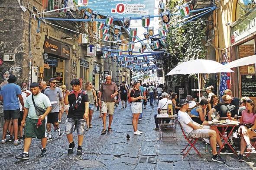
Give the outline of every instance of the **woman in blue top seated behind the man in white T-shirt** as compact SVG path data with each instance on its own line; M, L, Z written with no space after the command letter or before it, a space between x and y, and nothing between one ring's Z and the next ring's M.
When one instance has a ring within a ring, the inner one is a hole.
M194 109L190 112L191 119L200 124L200 125L208 125L208 121L205 121L206 108L208 106L208 101L202 99L198 107L194 107Z

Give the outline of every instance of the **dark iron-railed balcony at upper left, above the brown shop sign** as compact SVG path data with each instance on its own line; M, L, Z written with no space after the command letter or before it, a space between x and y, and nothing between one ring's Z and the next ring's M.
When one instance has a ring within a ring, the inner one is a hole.
M45 13L45 18L63 18L63 19L81 19L84 14L84 10L78 10L78 8L70 9L61 9L65 7L65 4L62 3L63 0L45 0L43 2L45 11L51 11L54 9L60 9L51 13ZM46 20L47 21L47 20ZM57 21L57 20L48 20L52 24L59 25L74 31L83 31L84 22L74 22L74 21Z

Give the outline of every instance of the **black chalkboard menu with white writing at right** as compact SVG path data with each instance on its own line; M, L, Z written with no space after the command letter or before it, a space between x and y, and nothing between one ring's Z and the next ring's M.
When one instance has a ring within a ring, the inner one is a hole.
M242 96L256 97L255 75L241 75L241 94Z

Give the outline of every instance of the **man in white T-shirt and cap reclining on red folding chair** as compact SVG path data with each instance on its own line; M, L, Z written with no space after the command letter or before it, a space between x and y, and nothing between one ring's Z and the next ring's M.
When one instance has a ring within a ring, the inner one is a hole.
M217 154L216 150L217 143L222 146L220 136L217 135L216 131L210 129L210 126L199 125L191 119L188 113L186 113L188 110L188 103L188 99L181 99L180 101L181 109L178 111L178 121L181 124L181 127L190 138L210 138L210 145L213 153L211 158L212 161L225 163L226 160L221 158L220 155ZM211 128L214 128L214 126L211 126ZM222 150L225 152L220 152L220 154L233 154L232 151L229 151L226 145Z

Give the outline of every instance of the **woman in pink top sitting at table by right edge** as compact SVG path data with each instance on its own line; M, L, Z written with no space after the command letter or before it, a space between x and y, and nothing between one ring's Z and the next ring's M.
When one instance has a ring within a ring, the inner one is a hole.
M256 136L256 108L254 101L251 99L246 100L246 109L242 111L242 117L240 118L240 124L243 126L239 127L239 132L242 132L241 143L240 143L240 154L238 161L243 162L243 153L247 147L247 151L254 150L250 138ZM230 117L230 120L237 121Z

